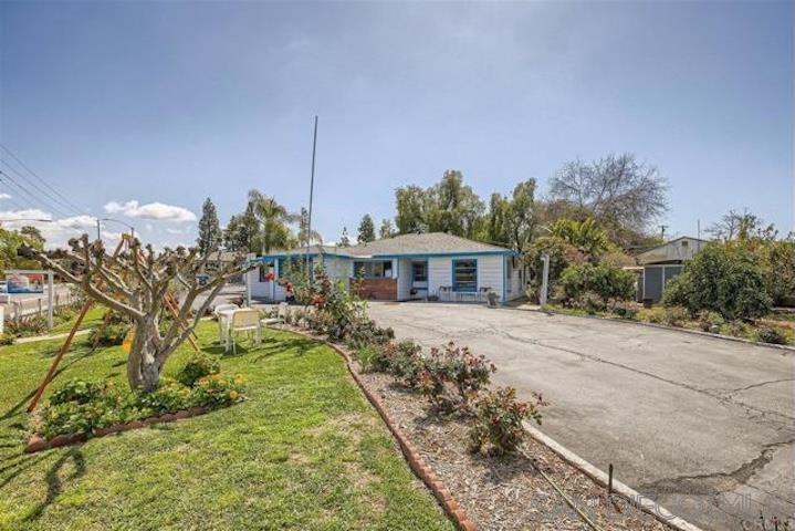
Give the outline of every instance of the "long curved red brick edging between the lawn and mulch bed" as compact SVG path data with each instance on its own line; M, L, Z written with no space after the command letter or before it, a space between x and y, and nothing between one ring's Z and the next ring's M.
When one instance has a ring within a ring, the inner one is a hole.
M395 439L398 441L398 446L400 446L400 451L402 451L402 455L406 458L406 461L408 461L409 468L415 473L415 476L417 476L426 485L426 487L430 489L436 499L439 501L439 504L442 507L442 509L444 509L444 512L447 512L447 514L456 522L456 524L460 529L462 529L463 531L477 531L478 527L474 524L474 522L472 522L472 520L469 519L461 506L458 504L458 501L456 501L456 499L452 497L450 490L444 487L442 480L433 472L433 469L430 467L430 465L428 465L428 462L422 459L422 456L420 456L419 452L411 445L411 442L409 442L408 438L402 434L400 428L395 423L393 423L378 397L374 393L372 393L362 382L358 373L353 366L353 361L351 360L348 353L342 350L338 345L335 345L334 343L331 343L322 337L308 334L303 330L297 330L294 327L289 327L285 330L323 343L326 346L329 346L334 352L339 354L343 360L345 360L345 366L347 367L348 373L351 373L351 376L354 378L354 382L356 382L356 385L367 397L367 400L369 400L373 407L375 407L376 412L378 412L378 415L381 417L381 420L384 420L384 424L386 424L387 428L389 428L389 431L391 431L393 437L395 437Z

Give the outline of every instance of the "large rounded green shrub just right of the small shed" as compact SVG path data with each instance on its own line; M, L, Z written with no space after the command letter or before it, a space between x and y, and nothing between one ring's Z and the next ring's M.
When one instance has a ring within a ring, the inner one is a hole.
M698 313L720 313L724 319L751 320L771 311L765 274L753 254L743 248L709 243L666 284L666 305Z

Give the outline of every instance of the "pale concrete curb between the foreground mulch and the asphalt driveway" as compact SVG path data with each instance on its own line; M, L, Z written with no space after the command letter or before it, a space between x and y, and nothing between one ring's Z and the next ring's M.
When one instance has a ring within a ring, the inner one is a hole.
M523 421L522 424L524 426L524 430L533 439L550 448L552 451L561 456L563 460L580 470L583 473L588 476L597 483L607 487L607 483L609 481L607 473L599 470L594 465L586 461L565 446L561 445L548 435L542 433L538 428L534 427L530 423ZM665 523L666 525L669 525L672 529L676 529L677 531L702 531L701 528L693 525L692 523L680 517L677 517L671 511L653 501L651 498L641 494L637 490L620 481L617 481L616 479L613 480L613 490L626 498L632 506L637 507L646 513L651 514L660 522Z

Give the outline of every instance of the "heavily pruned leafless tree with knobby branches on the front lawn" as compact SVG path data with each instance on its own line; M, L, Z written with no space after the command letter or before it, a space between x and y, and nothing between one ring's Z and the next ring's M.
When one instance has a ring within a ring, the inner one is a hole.
M29 247L22 253L80 287L93 301L130 319L135 337L127 358L127 381L145 393L157 388L166 360L192 333L227 281L253 268L241 256L200 283L198 275L206 273L209 254L202 257L197 248L167 248L156 253L150 244L142 248L134 239L113 256L101 241L90 242L87 235L70 240L69 246L71 250L60 253L71 261L69 269L57 261L57 254L51 258ZM178 316L161 333L160 313L170 290L179 291ZM191 314L199 295L206 299Z

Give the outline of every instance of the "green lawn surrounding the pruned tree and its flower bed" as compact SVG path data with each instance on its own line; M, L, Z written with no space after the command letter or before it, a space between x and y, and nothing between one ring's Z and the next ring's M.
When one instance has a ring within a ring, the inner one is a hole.
M205 322L199 335L220 352L216 331ZM25 404L59 345L0 348L0 529L453 529L337 354L289 333L223 357L247 377L240 405L25 455ZM54 386L125 382L124 361L79 339Z

